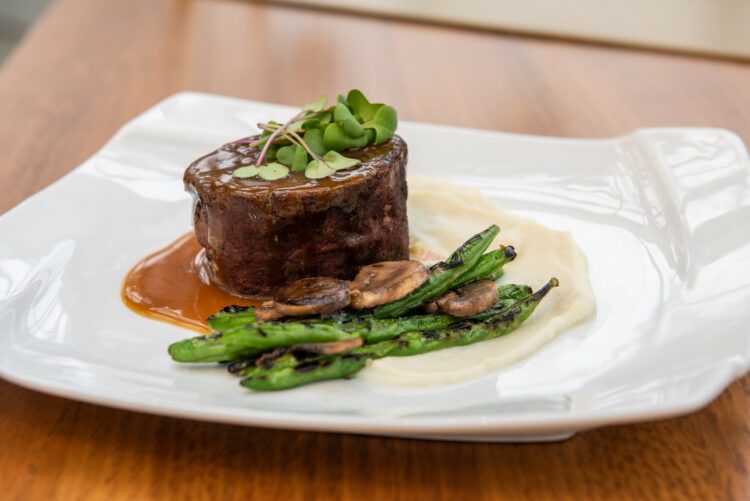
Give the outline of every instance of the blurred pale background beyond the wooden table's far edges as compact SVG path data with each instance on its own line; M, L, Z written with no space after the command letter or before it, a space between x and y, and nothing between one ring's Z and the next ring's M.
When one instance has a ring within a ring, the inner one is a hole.
M0 61L52 1L0 0ZM217 0L185 0L190 1ZM750 0L268 1L488 30L750 59ZM123 3L127 3L127 0L123 0Z

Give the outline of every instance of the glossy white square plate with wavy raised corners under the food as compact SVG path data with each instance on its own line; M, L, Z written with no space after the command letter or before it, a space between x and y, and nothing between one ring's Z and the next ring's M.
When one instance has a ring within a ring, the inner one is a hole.
M141 257L189 229L187 164L291 108L177 94L0 218L0 376L113 407L255 426L544 440L706 405L748 370L750 162L716 129L603 140L402 123L411 172L481 189L567 229L598 312L530 358L462 384L357 379L252 393L174 364L190 335L120 302Z

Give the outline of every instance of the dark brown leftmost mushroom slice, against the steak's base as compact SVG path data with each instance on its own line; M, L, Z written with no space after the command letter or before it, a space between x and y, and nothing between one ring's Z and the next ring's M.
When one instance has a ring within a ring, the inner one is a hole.
M328 277L309 277L282 287L273 301L266 301L255 310L260 321L286 316L333 313L349 306L349 283Z

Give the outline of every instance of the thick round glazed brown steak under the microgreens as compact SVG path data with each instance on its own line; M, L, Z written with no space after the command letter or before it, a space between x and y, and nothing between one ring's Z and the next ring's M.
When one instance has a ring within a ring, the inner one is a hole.
M311 276L349 280L359 268L409 257L406 143L344 152L361 163L323 179L239 179L259 152L229 143L193 162L185 189L210 281L242 296L267 297Z

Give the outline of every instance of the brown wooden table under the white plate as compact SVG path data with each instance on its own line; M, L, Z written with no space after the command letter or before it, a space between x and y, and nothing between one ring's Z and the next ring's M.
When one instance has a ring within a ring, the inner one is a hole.
M750 142L747 64L242 1L60 0L1 71L0 213L182 90L299 104L356 86L411 120ZM0 382L2 499L748 499L749 467L747 377L687 417L530 445L223 426Z

